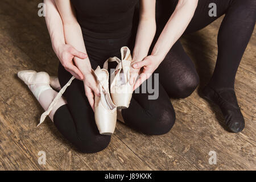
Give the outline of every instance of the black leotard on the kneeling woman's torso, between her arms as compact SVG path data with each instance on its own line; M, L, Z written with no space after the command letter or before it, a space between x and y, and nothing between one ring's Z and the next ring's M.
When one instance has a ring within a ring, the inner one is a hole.
M89 59L105 61L110 56L118 56L122 46L130 46L134 10L139 0L71 2Z

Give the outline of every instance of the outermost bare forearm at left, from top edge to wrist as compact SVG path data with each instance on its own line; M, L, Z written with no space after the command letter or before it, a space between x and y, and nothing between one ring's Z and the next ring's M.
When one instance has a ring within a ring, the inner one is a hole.
M46 25L51 37L52 48L58 55L59 48L65 44L63 22L54 0L44 0L46 4Z

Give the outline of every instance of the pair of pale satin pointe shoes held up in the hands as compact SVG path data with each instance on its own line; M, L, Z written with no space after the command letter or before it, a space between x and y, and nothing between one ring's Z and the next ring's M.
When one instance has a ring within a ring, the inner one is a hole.
M115 71L110 75L108 63L117 62ZM95 95L94 116L100 134L112 135L117 123L117 109L126 109L130 105L133 85L130 85L131 53L128 47L121 48L121 60L110 57L105 61L103 69L97 67L94 75L101 97Z

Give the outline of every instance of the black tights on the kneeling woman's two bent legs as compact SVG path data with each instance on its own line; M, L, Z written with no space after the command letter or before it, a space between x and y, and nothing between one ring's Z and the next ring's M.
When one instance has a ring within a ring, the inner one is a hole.
M92 67L97 64L90 59ZM101 65L102 67L102 65ZM70 73L59 65L59 81L63 87L71 78ZM154 79L152 78L154 85ZM171 130L175 121L174 108L159 84L159 97L148 100L147 93L134 93L128 109L122 110L126 125L148 135L161 135ZM68 104L56 110L53 122L69 142L81 152L91 153L103 150L110 142L110 136L100 135L94 121L94 112L85 96L82 81L73 80L64 93Z

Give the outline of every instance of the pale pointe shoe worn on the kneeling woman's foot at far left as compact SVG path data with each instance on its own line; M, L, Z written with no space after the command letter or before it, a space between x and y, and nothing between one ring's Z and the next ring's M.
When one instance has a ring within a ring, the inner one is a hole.
M49 75L46 72L24 70L18 72L18 77L27 84L37 100L39 100L39 96L44 90L51 89Z

